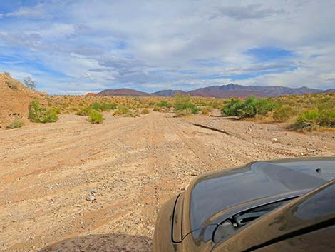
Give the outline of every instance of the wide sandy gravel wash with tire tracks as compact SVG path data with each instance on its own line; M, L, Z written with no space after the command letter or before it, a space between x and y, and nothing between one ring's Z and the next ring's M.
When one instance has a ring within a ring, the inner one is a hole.
M150 251L160 206L195 175L334 154L335 133L155 112L105 114L102 125L65 115L0 131L0 251Z

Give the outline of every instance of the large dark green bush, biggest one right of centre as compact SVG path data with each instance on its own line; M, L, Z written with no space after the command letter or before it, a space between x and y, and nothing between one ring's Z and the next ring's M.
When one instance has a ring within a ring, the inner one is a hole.
M239 116L239 118L250 118L254 116L264 116L278 105L269 99L255 99L249 96L245 101L240 99L230 99L228 104L223 106L222 115Z

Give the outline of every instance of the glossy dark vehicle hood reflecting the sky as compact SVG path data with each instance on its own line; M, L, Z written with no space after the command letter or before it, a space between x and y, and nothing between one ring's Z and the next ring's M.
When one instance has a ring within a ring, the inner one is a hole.
M234 211L301 196L334 178L335 158L254 162L207 173L180 197L183 223L179 238L192 233L197 239L208 226L217 226Z

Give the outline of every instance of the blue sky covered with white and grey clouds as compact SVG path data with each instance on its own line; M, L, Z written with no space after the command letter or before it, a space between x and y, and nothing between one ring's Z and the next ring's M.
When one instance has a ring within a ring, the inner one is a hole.
M0 71L50 94L335 88L334 0L1 0Z

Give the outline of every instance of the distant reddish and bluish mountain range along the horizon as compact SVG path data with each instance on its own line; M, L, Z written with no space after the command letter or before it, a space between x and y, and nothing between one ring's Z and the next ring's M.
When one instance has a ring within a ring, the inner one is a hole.
M162 90L153 94L137 91L135 89L106 89L98 93L99 96L166 96L171 97L175 94L190 94L190 96L202 97L216 97L216 98L229 98L229 97L274 97L287 94L315 94L323 92L334 92L335 89L322 90L322 89L309 89L302 86L297 89L289 88L286 86L243 86L237 84L228 84L222 86L207 86L205 88L195 89L192 91L182 90Z

